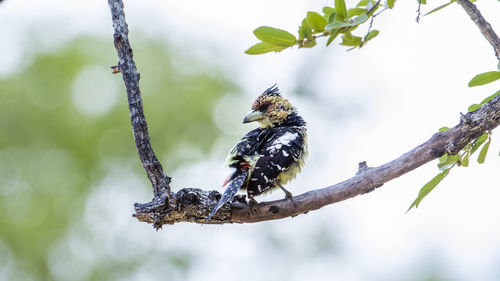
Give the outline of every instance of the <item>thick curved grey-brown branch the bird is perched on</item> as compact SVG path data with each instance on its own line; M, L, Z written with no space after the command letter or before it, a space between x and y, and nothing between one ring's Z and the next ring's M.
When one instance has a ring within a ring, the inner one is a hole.
M483 133L500 125L500 96L484 104L476 111L463 115L460 123L445 132L434 134L428 141L384 165L369 168L360 163L356 176L322 189L312 190L294 197L296 206L288 200L263 202L253 210L244 203L243 198L228 206L226 204L207 223L251 223L293 217L326 205L372 191L376 187L406 174L444 153L456 154L466 144ZM220 194L216 191L203 191L185 188L171 198L172 211L165 216L164 224L176 222L202 223L217 203ZM151 223L152 214L162 206L157 203L136 204L134 215L137 219Z

